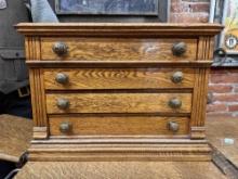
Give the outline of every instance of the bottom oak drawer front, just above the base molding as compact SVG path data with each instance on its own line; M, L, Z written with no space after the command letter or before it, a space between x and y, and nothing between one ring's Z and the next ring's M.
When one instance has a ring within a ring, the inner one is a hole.
M178 130L169 129L169 122L176 123ZM68 131L61 125L69 124ZM186 117L50 117L50 135L187 135L189 119Z

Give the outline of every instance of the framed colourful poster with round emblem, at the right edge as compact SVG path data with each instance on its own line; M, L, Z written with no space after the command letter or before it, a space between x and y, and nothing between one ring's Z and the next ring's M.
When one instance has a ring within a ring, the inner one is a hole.
M224 25L213 65L238 66L238 0L211 0L210 23Z

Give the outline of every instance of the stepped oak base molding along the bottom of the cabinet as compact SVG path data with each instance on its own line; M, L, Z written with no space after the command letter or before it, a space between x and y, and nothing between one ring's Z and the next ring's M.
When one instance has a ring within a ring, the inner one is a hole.
M124 162L124 161L211 161L211 149L203 143L142 144L32 144L31 162Z

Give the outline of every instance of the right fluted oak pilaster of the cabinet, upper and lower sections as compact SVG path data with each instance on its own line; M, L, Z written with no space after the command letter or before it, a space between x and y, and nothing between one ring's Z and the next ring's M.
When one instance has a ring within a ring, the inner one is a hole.
M214 37L201 36L198 42L198 59L212 60L214 50ZM204 120L207 110L207 95L209 82L209 68L199 68L199 76L195 80L193 111L191 111L191 139L202 139L204 133Z

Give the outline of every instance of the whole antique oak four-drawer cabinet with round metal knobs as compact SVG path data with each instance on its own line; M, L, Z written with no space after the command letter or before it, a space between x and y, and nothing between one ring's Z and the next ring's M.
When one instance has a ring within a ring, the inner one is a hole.
M61 23L25 35L30 161L209 161L214 24Z

